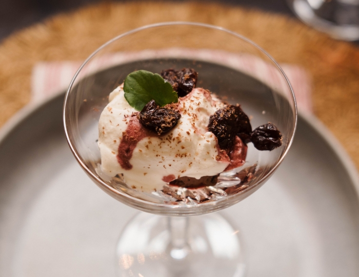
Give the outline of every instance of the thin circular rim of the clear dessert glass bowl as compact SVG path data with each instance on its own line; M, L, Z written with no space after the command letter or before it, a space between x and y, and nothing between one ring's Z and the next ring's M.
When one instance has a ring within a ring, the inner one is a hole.
M258 187L258 185L260 185L261 183L263 183L266 179L268 179L269 176L271 176L273 174L273 172L277 169L277 167L283 162L284 157L286 156L292 142L293 142L293 138L294 138L294 134L296 131L296 127L297 127L297 104L296 104L296 100L295 100L295 95L294 95L294 91L293 88L288 80L287 75L284 73L283 69L280 67L280 65L278 65L278 63L274 60L274 58L267 53L263 48L261 48L260 46L258 46L257 44L255 44L254 42L252 42L250 39L248 39L247 37L238 34L234 31L228 30L226 28L220 27L220 26L215 26L215 25L211 25L211 24L206 24L206 23L198 23L198 22L185 22L185 21L173 21L173 22L162 22L162 23L155 23L155 24L149 24L149 25L144 25L142 27L139 28L135 28L132 29L130 31L127 31L125 33L122 33L120 35L115 36L114 38L110 39L108 42L106 42L105 44L103 44L102 46L100 46L99 48L97 48L86 60L85 62L78 68L78 70L76 71L75 75L73 76L71 83L66 91L65 94L65 101L64 101L64 106L63 106L63 122L64 122L64 129L65 129L65 135L66 135L66 140L67 143L71 149L72 154L75 156L77 162L81 165L81 167L83 168L83 170L85 170L85 172L93 179L97 182L98 184L101 184L101 186L103 186L103 189L107 189L110 190L112 193L117 194L118 196L121 197L126 197L128 200L130 201L134 201L137 203L143 203L145 205L150 205L150 206L157 206L157 207L166 207L166 208L175 208L175 209L182 209L184 208L188 208L188 207L194 207L194 206L198 206L200 205L201 207L204 206L209 206L209 205L213 205L213 203L220 203L223 202L224 200L228 199L233 199L235 198L235 196L239 196L242 193L236 193L233 195L228 195L222 199L217 199L214 201L209 201L207 203L200 203L200 204L196 204L196 205L172 205L172 204L162 204L162 203L154 203L154 202L150 202L147 200L142 200L142 199L138 199L137 197L131 196L129 194L126 194L122 191L116 190L113 187L109 186L108 184L106 184L101 178L99 178L96 174L94 174L87 166L86 164L82 161L81 157L79 156L79 154L77 153L75 147L72 145L70 136L69 136L69 132L68 132L68 128L66 125L67 119L66 119L66 109L67 109L67 103L68 103L68 97L70 94L70 91L72 89L72 86L76 80L76 77L78 76L79 72L84 68L84 66L91 60L91 58L96 55L99 51L101 51L102 49L104 49L105 47L107 47L108 45L110 45L111 43L117 41L117 39L120 39L124 36L139 32L139 31L143 31L146 29L150 29L150 28L155 28L155 27L164 27L164 26L175 26L175 25L187 25L187 26L196 26L196 27L204 27L204 28L209 28L209 29L214 29L214 30L218 30L218 31L223 31L226 32L228 34L231 34L237 38L242 39L242 41L254 46L257 50L260 50L262 53L264 53L270 60L271 62L275 65L275 67L282 73L282 75L285 78L285 81L287 82L287 85L289 87L290 93L291 93L291 98L293 100L294 103L294 128L293 128L293 133L291 134L291 137L286 145L286 149L284 150L283 154L281 155L280 159L278 160L278 162L262 177L262 179L260 181L258 181L255 185L251 186L248 190L245 189L243 192L249 192L250 190L254 190L254 188ZM150 212L150 211L149 211Z

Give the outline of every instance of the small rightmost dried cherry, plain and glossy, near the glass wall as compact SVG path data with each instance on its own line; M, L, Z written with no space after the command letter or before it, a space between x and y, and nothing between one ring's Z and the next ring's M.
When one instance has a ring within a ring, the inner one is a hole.
M270 122L255 128L251 133L251 142L258 150L269 150L282 145L281 132Z

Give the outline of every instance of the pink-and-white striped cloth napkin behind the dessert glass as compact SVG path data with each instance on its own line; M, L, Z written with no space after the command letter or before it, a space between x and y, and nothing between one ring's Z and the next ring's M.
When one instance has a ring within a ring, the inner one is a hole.
M145 50L140 52L121 52L103 55L94 59L91 65L84 68L87 74L114 65L153 57L186 57L197 61L211 61L241 70L256 77L269 86L281 87L286 83L279 80L277 70L252 55L238 55L217 50L165 49L161 51ZM38 62L32 70L31 101L42 102L66 90L72 77L82 65L78 61ZM281 64L295 93L298 110L312 113L311 80L308 73L300 66ZM274 72L275 71L275 72ZM86 74L85 73L85 74ZM279 84L278 84L279 83Z

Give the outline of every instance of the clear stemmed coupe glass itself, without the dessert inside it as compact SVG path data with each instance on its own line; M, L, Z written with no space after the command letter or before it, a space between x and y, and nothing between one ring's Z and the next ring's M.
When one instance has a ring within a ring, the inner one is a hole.
M215 185L196 189L165 185L141 192L126 184L126 172L104 174L97 126L109 93L135 70L183 67L198 72L197 87L240 103L253 128L273 123L283 134L282 146L258 151L250 143L243 166L221 173ZM240 229L216 211L240 202L268 180L289 150L296 118L293 90L280 66L249 39L224 28L149 25L111 39L90 55L66 93L65 133L77 162L99 188L144 211L119 235L118 276L244 276Z

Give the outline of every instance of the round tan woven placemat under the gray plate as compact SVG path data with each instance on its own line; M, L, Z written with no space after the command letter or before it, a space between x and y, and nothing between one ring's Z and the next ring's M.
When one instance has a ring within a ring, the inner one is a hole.
M38 61L84 60L127 30L150 23L194 21L241 33L278 62L312 76L315 115L344 145L359 168L359 48L283 15L205 3L106 3L17 32L0 45L0 126L30 100Z

